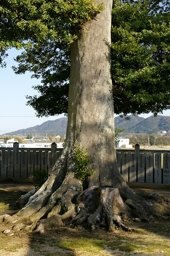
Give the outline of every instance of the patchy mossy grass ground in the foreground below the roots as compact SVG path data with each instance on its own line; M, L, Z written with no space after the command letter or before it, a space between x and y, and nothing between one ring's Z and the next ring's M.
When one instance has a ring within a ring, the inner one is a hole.
M168 221L164 225L166 226L167 223ZM46 256L118 256L129 255L129 253L149 256L170 255L169 238L159 234L161 223L156 225L154 222L129 224L138 226L135 227L135 232L129 233L118 230L115 233L108 233L99 229L92 233L84 229L61 227L57 230L48 230L42 235L39 232L24 233L22 231L13 237L2 234L0 236L0 253L4 251L17 252L29 244L31 251L35 252L34 254ZM153 226L157 232L150 229ZM162 251L164 253L161 253Z

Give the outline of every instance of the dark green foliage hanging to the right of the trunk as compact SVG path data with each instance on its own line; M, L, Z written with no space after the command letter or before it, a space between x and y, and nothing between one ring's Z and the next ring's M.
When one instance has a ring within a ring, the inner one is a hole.
M115 2L112 79L117 114L154 115L170 106L169 7ZM151 8L153 6L153 9Z

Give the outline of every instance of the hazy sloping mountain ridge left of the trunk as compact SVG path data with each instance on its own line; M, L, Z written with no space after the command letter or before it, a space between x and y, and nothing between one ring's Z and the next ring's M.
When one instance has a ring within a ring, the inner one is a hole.
M30 135L38 134L38 136L46 136L48 134L54 134L54 135L62 135L64 136L66 134L67 129L67 117L58 118L56 120L52 121L46 121L41 125L36 125L34 127L29 127L27 129L20 129L14 132L8 133L9 135L17 135L17 134L26 134Z

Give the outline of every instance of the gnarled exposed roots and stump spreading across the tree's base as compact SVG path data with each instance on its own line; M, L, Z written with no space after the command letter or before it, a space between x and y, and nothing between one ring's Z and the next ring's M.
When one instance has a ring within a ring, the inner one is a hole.
M11 225L11 232L20 229L44 232L45 229L58 228L64 224L72 227L85 225L91 230L102 228L114 232L118 227L129 231L130 229L125 226L125 221L129 218L137 217L139 221L149 221L149 216L170 215L169 196L138 192L134 199L123 202L116 187L92 186L82 191L78 184L68 187L64 193L56 196L57 194L55 191L49 197L47 193L46 205L27 218L22 216L22 209L21 213L13 216L0 216L0 221ZM40 197L38 200L42 202Z

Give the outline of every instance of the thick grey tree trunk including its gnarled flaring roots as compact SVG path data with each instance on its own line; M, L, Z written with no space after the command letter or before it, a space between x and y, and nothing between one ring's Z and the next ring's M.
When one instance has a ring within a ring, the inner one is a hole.
M3 217L13 225L27 221L26 230L58 227L70 218L73 218L70 225L87 221L93 229L103 222L112 230L114 221L121 223L118 216L129 211L121 197L134 198L116 163L110 75L112 0L98 2L104 2L105 10L84 24L71 46L68 126L62 155L43 186L31 197L29 194L28 198L21 198L21 205L22 201L28 201L26 206L12 217ZM83 194L82 181L75 176L73 149L76 144L88 148L94 160L90 168L96 171ZM101 188L103 186L107 188ZM89 195L96 202L93 209L85 203ZM118 206L116 210L114 204ZM15 230L20 227L18 224Z

